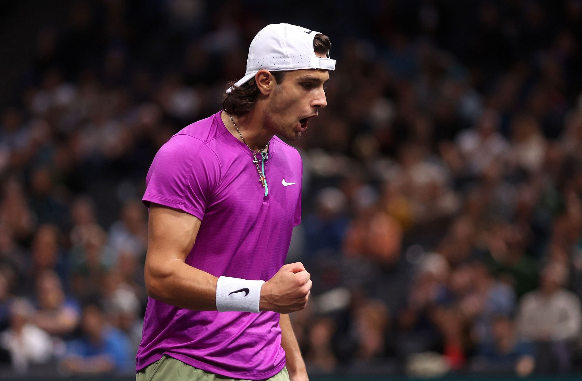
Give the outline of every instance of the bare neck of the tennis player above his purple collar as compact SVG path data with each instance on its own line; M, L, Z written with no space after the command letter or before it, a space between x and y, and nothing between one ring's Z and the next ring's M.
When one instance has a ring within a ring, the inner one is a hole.
M240 134L243 135L244 140L249 145L250 149L257 151L263 148L271 138L273 137L273 133L269 131L269 129L265 126L265 120L259 110L253 109L246 115L243 116L236 116L233 115L232 118L236 123L236 126L239 128ZM230 134L235 136L235 138L239 139L239 141L243 141L240 138L239 133L236 131L235 125L230 120L228 113L223 111L221 113L222 122L226 126L226 129L230 131Z

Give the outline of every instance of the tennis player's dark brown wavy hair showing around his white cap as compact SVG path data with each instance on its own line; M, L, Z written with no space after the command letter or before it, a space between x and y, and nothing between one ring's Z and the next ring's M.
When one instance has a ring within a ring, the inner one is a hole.
M315 53L327 55L331 50L329 37L321 33L316 34L313 38L313 50ZM277 84L280 84L285 79L285 73L287 71L271 71ZM254 77L240 86L236 86L235 82L230 81L226 84L226 88L232 87L232 91L222 96L222 109L229 114L243 116L253 109L260 91Z

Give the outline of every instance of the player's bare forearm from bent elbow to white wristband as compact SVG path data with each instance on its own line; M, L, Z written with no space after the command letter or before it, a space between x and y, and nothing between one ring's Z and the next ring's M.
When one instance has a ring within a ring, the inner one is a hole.
M218 278L208 272L174 260L164 268L146 267L148 296L164 303L196 311L216 311Z

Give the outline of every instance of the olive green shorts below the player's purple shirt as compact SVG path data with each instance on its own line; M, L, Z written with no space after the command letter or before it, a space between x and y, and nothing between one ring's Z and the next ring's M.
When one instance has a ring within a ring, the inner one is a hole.
M204 372L194 366L186 365L182 361L163 355L162 358L136 373L136 381L230 381L228 377ZM287 368L267 379L268 381L289 381ZM265 380L265 381L267 381ZM244 381L244 380L243 380Z

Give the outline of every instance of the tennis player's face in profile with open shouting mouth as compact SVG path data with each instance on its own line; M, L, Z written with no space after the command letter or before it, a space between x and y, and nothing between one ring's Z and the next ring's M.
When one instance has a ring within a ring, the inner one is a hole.
M307 120L327 106L324 84L328 80L327 70L304 69L285 73L265 109L264 120L269 128L289 141L299 138L307 128Z

